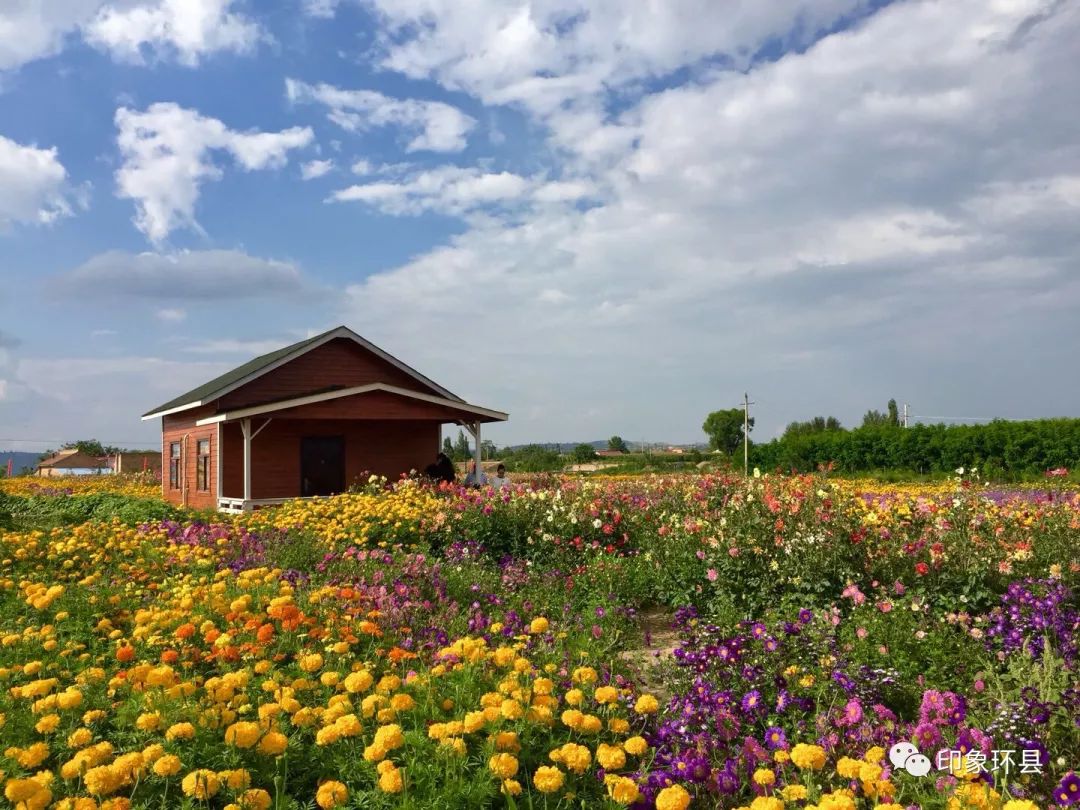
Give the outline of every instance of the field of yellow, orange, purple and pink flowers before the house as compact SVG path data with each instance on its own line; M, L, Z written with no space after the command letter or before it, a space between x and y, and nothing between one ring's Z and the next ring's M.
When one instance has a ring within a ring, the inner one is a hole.
M1076 491L156 491L0 481L12 807L1080 805Z

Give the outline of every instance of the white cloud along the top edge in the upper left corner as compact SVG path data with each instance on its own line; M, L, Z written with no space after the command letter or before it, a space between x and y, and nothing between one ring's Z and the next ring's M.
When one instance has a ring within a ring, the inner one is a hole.
M266 35L234 0L14 0L0 8L0 70L60 51L81 33L113 57L194 66L208 54L251 52Z

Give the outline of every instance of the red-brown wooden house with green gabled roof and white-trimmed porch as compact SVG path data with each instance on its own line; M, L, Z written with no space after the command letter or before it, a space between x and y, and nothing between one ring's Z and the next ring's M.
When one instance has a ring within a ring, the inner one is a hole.
M170 402L161 419L162 491L176 504L249 511L334 495L367 473L423 470L442 426L463 426L480 457L471 405L339 326L264 354Z

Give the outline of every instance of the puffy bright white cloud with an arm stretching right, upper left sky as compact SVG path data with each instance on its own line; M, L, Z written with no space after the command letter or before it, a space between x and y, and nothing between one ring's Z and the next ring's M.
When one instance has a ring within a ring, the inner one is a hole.
M291 150L312 140L309 127L237 132L176 104L154 104L144 112L121 107L116 123L124 161L116 173L118 194L135 201L135 226L154 243L177 228L199 230L199 187L222 174L212 152L230 153L247 171L278 168Z

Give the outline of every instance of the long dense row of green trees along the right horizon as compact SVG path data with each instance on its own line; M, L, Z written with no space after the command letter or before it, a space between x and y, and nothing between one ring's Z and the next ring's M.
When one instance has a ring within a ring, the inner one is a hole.
M1080 464L1080 419L918 424L906 430L882 423L785 434L754 445L751 463L764 470L802 472L833 463L845 474L879 470L932 474L975 467L985 476L1015 480Z

